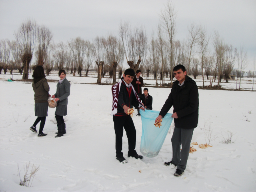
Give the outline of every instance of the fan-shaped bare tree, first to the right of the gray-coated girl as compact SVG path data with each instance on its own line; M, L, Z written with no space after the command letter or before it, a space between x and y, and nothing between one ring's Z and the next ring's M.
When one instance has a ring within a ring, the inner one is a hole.
M68 42L68 47L71 52L72 59L76 62L78 74L81 77L86 56L86 42L82 38L77 37Z

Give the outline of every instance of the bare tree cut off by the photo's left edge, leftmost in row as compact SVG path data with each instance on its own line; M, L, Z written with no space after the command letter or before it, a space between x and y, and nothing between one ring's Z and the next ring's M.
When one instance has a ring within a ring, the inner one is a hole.
M8 45L8 40L0 41L0 74L2 69L4 69L4 74L7 72L8 65L10 63L10 47Z

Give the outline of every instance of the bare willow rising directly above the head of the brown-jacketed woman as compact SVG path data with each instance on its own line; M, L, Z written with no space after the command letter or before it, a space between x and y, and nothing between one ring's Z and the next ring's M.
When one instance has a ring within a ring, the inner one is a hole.
M37 48L36 48L36 63L43 66L49 54L49 47L52 41L52 32L46 26L37 27Z

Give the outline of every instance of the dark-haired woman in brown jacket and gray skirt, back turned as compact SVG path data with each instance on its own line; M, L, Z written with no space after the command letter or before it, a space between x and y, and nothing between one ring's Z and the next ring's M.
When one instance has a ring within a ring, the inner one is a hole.
M43 133L43 129L46 117L48 116L48 97L50 97L50 87L47 83L46 76L44 74L44 68L42 66L36 66L32 77L32 87L35 92L35 116L37 116L37 119L34 122L33 126L30 127L30 130L37 133L36 125L41 121L38 137L42 137L47 135Z

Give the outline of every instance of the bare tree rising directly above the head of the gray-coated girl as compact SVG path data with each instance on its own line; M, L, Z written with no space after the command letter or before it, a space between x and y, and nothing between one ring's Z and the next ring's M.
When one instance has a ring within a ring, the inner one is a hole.
M55 65L58 67L58 70L64 69L64 65L68 60L68 52L67 46L63 42L60 42L56 46L56 51L54 54L54 62Z

